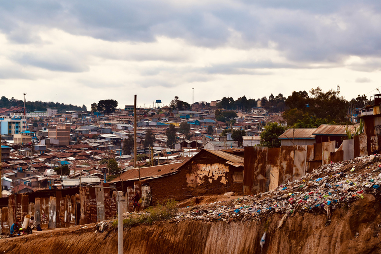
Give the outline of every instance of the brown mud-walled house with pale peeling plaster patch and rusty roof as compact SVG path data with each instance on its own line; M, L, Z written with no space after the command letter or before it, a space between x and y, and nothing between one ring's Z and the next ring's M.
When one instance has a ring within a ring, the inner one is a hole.
M224 151L201 150L188 161L140 168L141 184L149 186L152 202L193 196L243 193L244 158ZM123 190L138 181L138 169L128 170L115 183Z

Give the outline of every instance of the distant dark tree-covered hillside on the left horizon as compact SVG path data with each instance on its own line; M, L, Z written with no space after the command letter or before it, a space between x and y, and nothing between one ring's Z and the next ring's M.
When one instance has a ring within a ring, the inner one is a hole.
M10 107L23 107L24 101L17 100L13 97L11 99L6 98L5 96L1 96L0 99L0 108L10 108ZM64 113L66 110L84 110L87 111L85 105L82 107L64 104L59 102L42 102L42 101L27 101L25 103L26 111L46 111L46 108L57 109L58 113Z

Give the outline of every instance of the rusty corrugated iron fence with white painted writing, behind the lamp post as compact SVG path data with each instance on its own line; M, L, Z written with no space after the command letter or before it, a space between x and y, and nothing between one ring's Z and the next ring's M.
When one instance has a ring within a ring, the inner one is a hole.
M104 184L103 187L108 187L108 184ZM63 195L64 190L52 190L49 197L46 197L46 192L44 194L44 191L41 191L40 197L40 192L34 192L34 197L23 193L1 198L0 234L8 233L10 226L14 222L21 223L27 214L34 216L35 225L40 224L42 229L67 228L107 220L117 215L117 193L112 189L80 187L79 193L72 195ZM132 201L129 200L137 191L141 195L141 206L149 206L150 188L135 182L134 186L128 187L124 193L123 212L133 210ZM34 200L29 202L31 199Z

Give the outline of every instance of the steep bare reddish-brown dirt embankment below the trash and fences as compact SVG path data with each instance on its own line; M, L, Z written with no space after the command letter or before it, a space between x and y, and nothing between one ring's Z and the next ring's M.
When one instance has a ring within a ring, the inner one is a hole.
M296 213L278 229L280 220L275 213L260 222L188 220L140 225L125 229L124 250L128 254L381 253L381 203L372 194L349 208L335 210L330 224L326 214ZM0 253L117 253L117 232L95 231L94 225L88 225L2 239ZM261 252L259 242L265 231Z

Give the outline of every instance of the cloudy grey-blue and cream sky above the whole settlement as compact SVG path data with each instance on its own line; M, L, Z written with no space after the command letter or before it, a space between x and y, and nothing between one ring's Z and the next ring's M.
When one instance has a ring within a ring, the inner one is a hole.
M379 0L11 0L1 96L168 105L381 86ZM163 106L162 105L162 106Z

